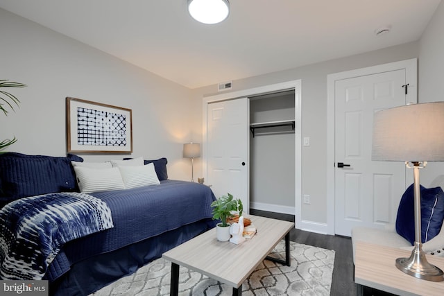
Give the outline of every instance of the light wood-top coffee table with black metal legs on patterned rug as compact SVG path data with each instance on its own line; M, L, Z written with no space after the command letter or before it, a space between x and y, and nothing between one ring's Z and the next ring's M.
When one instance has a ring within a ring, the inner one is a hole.
M264 259L290 265L290 230L293 222L271 218L248 216L257 228L257 234L240 245L220 242L216 229L162 254L171 261L171 292L178 295L179 265L233 287L233 295L241 295L242 283ZM285 260L267 257L273 248L285 238Z

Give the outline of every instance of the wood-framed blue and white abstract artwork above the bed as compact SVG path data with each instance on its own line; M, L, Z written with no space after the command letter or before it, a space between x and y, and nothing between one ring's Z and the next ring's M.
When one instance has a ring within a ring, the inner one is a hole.
M68 153L132 153L130 109L67 97Z

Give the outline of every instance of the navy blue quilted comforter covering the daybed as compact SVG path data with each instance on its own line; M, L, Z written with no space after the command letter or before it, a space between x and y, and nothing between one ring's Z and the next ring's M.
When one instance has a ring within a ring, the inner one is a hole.
M211 218L215 200L208 186L177 180L135 189L91 193L111 209L114 228L65 245L50 265L46 279L57 279L77 261L103 254L182 225Z

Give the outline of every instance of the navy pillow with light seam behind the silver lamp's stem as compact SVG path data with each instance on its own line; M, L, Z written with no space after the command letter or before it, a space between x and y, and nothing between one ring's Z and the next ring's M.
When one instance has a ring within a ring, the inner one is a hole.
M441 187L427 189L420 186L421 193L421 243L434 238L440 231L444 219L444 192ZM415 210L413 184L402 195L396 232L413 245L415 242Z

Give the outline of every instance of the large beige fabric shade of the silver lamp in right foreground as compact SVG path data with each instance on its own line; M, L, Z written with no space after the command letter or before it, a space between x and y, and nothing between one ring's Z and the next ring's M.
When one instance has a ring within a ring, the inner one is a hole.
M407 105L376 112L372 159L444 161L444 102Z

